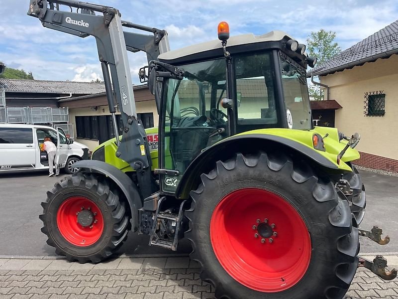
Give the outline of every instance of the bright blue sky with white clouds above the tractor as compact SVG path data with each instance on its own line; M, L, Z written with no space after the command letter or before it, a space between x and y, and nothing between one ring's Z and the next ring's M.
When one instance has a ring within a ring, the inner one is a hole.
M172 50L217 39L227 21L231 35L288 32L305 43L311 31L336 32L342 50L398 18L397 0L92 0L112 6L122 19L169 33ZM94 37L79 38L44 28L26 15L29 0L0 0L0 61L32 72L39 80L102 79ZM130 29L125 29L130 30ZM144 53L128 54L133 83L146 64Z

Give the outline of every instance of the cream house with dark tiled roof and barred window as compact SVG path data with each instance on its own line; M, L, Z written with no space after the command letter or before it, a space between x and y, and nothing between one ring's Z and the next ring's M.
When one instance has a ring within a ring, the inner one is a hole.
M357 164L398 172L398 20L315 67L326 85L335 127L361 135ZM321 103L320 101L319 103ZM311 103L312 104L312 103ZM314 118L315 119L315 118Z

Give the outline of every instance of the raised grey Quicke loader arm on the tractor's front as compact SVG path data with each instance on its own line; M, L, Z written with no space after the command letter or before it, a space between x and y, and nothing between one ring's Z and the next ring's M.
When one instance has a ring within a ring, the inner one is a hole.
M62 10L63 7L67 10ZM30 0L27 14L39 18L44 27L96 38L115 136L118 136L117 106L123 122L123 137L120 142L117 140L116 156L137 171L141 195L145 198L152 194L149 146L144 128L137 120L127 50L146 52L148 61L156 59L160 53L169 50L167 32L122 21L119 11L113 7L76 0ZM123 25L153 35L123 32Z

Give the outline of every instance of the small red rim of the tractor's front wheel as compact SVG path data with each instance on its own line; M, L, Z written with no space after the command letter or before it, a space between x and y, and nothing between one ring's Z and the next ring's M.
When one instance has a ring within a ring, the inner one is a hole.
M65 200L59 207L57 225L61 235L69 243L86 247L100 239L103 232L103 217L94 201L74 196Z

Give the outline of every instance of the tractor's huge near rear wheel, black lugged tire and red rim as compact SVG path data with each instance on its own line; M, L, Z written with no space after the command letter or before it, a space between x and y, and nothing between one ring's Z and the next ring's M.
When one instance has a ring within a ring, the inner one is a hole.
M359 236L329 177L283 153L261 152L217 161L200 179L186 236L216 298L343 298L358 266ZM265 218L278 231L272 243Z

